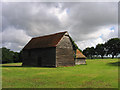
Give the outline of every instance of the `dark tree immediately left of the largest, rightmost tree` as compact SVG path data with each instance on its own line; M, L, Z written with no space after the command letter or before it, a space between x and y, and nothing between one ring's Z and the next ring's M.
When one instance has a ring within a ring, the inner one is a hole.
M97 44L95 48L96 55L100 55L103 59L103 56L106 54L105 45L104 44Z

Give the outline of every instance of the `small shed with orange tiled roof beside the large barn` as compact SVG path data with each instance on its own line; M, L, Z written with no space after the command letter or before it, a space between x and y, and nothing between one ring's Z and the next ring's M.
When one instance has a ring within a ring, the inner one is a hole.
M86 64L86 57L78 49L76 50L75 64L76 65Z

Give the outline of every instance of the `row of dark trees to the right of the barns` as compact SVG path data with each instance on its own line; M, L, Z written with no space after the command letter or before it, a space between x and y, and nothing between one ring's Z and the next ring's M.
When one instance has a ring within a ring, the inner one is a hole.
M111 38L104 44L97 44L96 47L87 47L83 50L83 54L90 59L111 55L111 58L120 54L120 38Z

